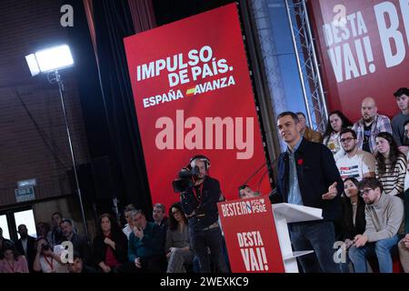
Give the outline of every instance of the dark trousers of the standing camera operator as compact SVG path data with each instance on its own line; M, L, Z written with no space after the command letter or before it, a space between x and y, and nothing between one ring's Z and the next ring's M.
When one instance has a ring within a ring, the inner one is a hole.
M208 230L194 230L189 227L189 236L195 251L195 256L199 261L201 273L211 272L207 247L210 249L210 256L217 271L220 273L228 273L223 255L222 232L220 227Z

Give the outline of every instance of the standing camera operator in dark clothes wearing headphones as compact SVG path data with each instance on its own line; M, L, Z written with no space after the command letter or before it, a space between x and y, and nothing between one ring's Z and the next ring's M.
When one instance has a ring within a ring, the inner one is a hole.
M222 232L218 225L217 202L221 196L220 183L207 176L210 160L193 156L191 183L181 192L182 208L189 222L189 236L202 273L210 273L210 258L220 273L227 273L224 261ZM179 176L182 176L179 174Z

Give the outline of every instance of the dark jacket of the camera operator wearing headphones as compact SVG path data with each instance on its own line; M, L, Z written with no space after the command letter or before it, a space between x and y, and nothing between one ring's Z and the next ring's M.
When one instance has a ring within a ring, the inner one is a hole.
M185 214L189 216L195 211L195 216L188 218L190 227L202 230L218 220L217 202L220 195L219 181L209 176L205 176L203 182L201 203L196 199L193 188L181 194Z

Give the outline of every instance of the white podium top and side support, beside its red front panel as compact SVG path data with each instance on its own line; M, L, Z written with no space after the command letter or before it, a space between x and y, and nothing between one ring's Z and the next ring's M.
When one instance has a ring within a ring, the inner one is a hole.
M295 222L313 221L323 219L323 210L320 208L297 206L294 204L280 203L272 205L275 229L284 261L285 273L298 273L296 258L314 253L314 250L293 252L291 246L288 224Z

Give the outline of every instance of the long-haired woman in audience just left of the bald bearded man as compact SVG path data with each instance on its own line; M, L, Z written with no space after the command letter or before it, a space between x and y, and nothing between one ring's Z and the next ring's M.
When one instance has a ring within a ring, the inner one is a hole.
M351 121L339 110L335 110L328 115L323 144L331 150L335 161L344 155L340 141L340 132L352 125Z

